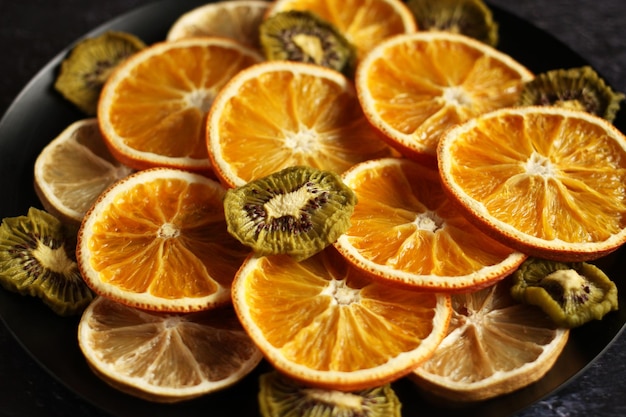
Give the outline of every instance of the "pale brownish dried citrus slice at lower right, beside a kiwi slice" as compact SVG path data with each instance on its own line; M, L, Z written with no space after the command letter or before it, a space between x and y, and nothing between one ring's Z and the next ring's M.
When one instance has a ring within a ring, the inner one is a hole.
M507 394L542 378L563 351L569 330L542 310L513 300L510 280L452 296L448 334L411 374L431 394L455 402Z

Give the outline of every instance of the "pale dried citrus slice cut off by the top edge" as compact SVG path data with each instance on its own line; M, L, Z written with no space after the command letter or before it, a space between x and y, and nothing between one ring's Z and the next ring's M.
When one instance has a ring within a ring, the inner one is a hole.
M181 15L166 40L197 36L221 36L260 50L259 25L271 3L265 0L217 1Z

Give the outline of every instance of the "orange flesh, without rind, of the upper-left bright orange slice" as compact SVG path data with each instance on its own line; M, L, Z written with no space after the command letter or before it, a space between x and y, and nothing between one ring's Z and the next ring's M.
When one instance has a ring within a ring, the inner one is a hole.
M110 120L131 148L170 157L208 158L206 113L225 82L255 62L236 49L220 46L171 48L146 59L120 81L118 97L108 109Z

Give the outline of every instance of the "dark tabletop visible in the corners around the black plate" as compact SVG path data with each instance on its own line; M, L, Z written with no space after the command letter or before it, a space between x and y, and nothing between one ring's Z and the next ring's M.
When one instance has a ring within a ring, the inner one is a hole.
M0 115L61 50L146 0L0 0ZM626 92L625 0L492 0L582 55L614 89ZM520 33L518 42L524 43ZM541 48L529 44L528 48ZM622 103L626 111L626 103ZM1 138L0 138L1 140ZM624 279L624 277L616 277ZM626 416L626 334L582 377L518 414ZM0 415L104 417L47 374L0 323ZM210 410L207 410L207 416Z

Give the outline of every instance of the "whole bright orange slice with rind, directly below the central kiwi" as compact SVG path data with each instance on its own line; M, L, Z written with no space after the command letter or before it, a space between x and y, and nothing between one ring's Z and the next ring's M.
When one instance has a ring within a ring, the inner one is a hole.
M409 373L435 350L451 314L449 296L380 284L332 246L301 262L249 258L233 282L233 304L279 371L342 391Z

